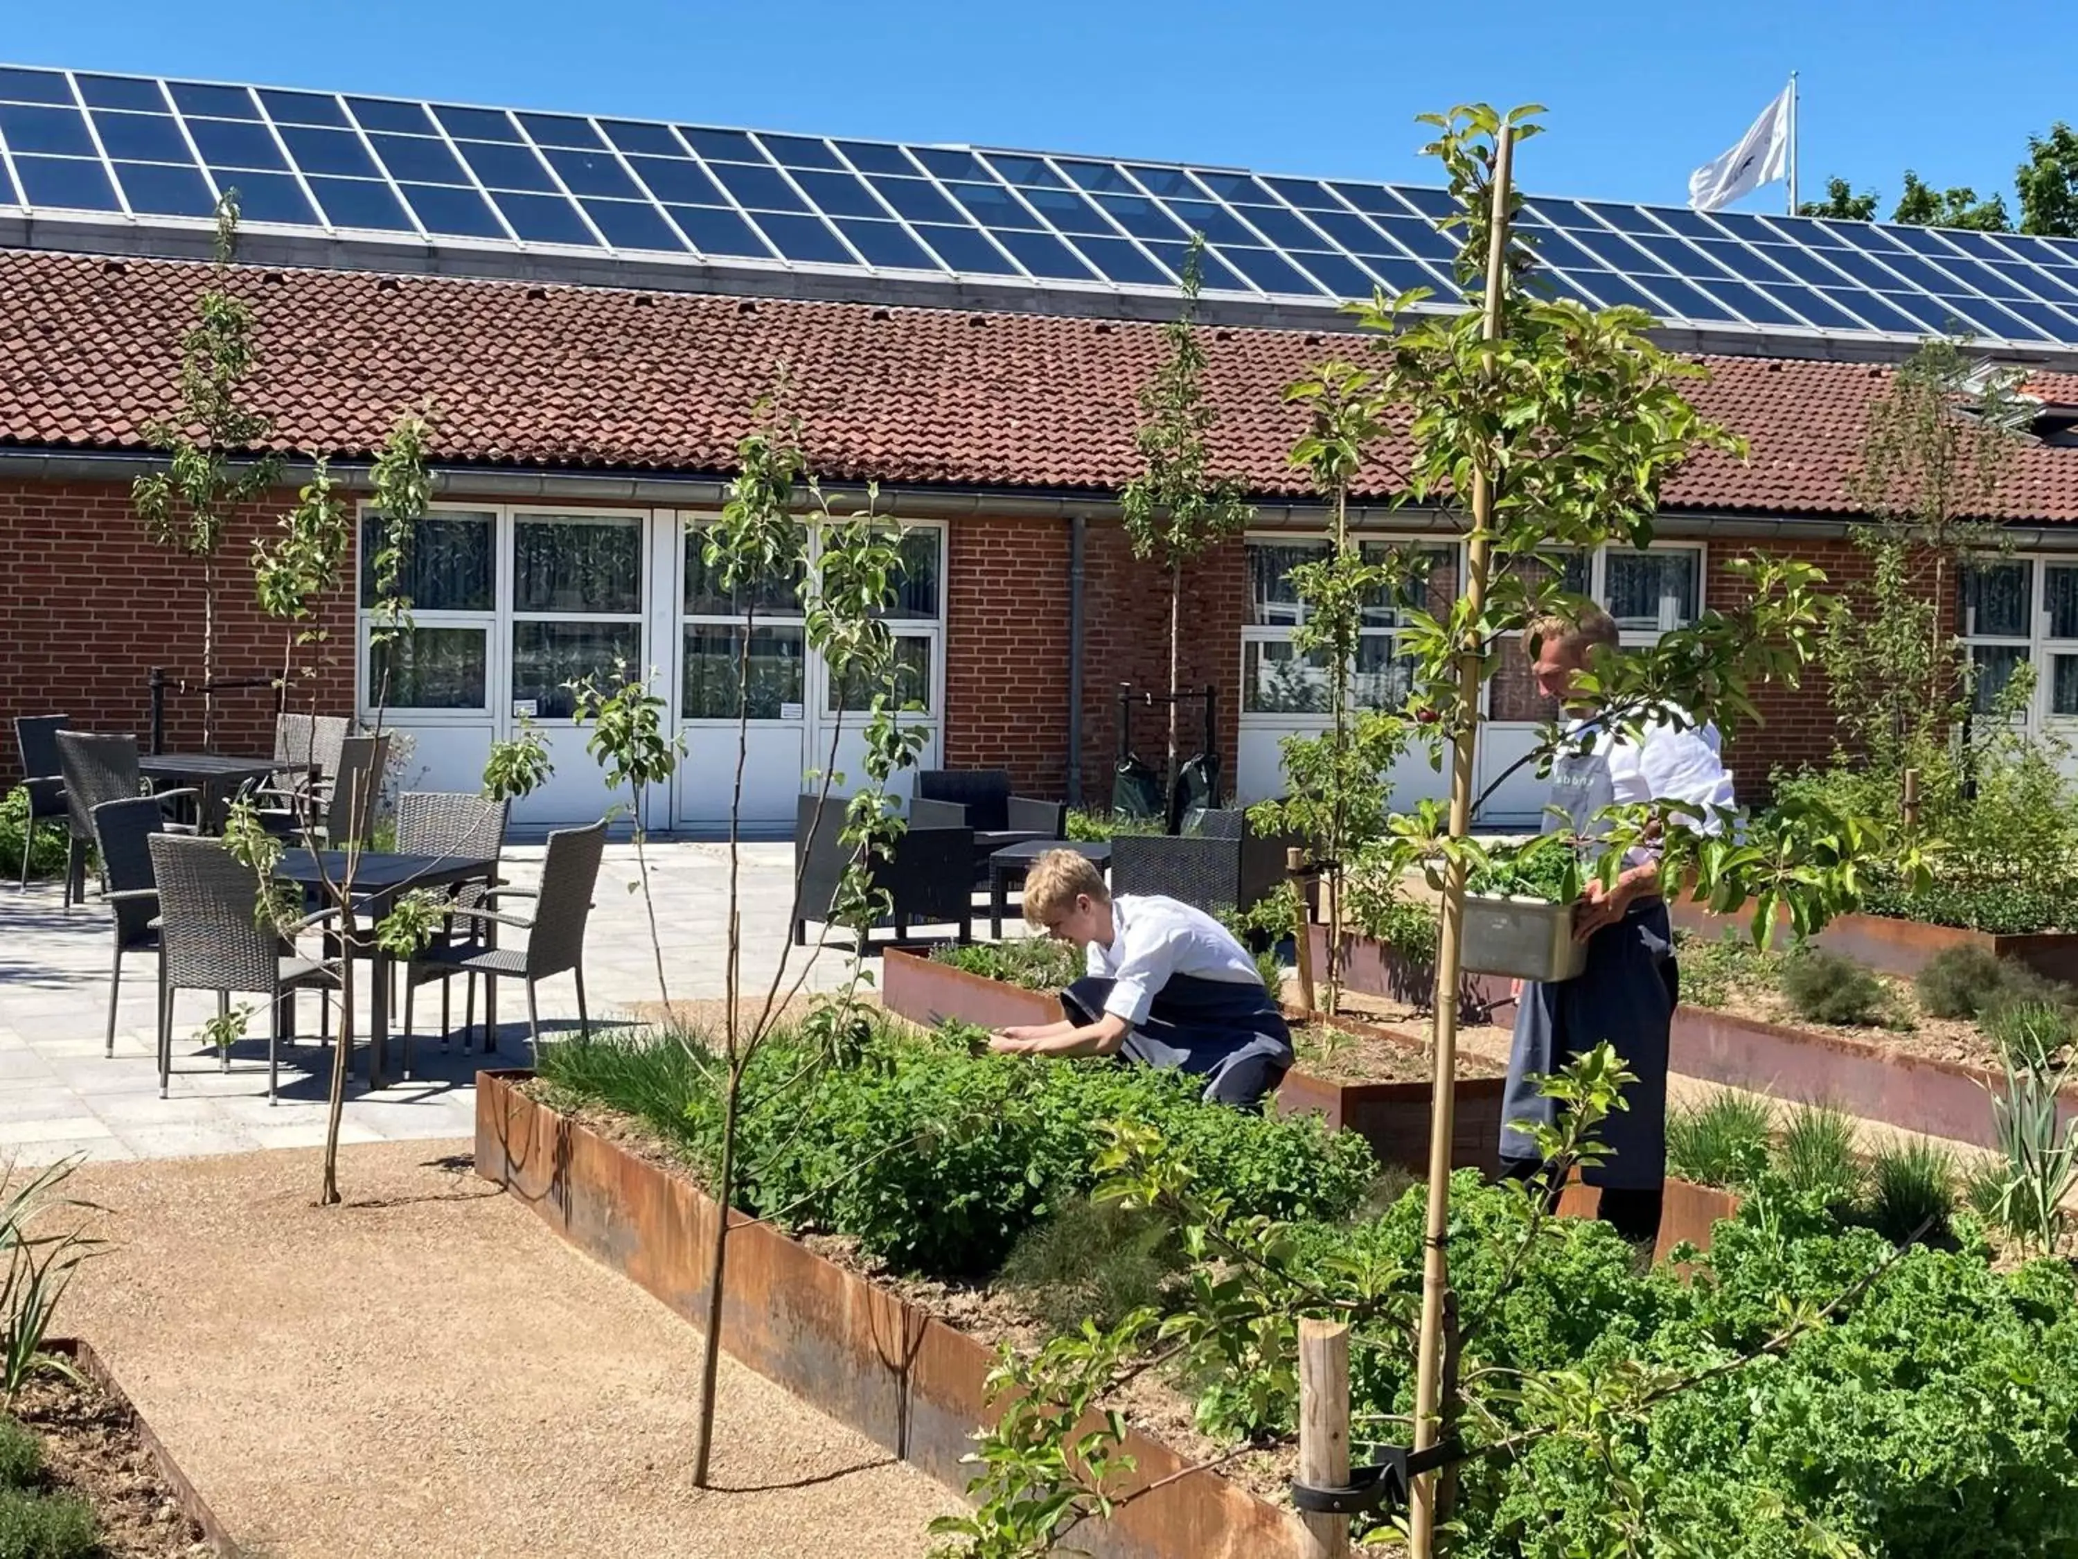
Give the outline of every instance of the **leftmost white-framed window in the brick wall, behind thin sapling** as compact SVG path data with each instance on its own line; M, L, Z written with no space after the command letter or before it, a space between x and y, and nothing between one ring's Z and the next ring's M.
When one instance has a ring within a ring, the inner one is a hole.
M387 692L391 709L490 707L497 530L497 516L478 509L434 509L422 516L403 545L395 586L407 603L411 626L376 644L372 630L378 626L374 605L382 516L362 513L370 701Z

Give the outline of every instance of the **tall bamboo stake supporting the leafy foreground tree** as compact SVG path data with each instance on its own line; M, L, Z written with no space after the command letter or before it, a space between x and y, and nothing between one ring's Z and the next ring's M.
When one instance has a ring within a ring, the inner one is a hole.
M1500 335L1500 297L1509 254L1509 179L1515 166L1515 129L1502 125L1494 137L1494 210L1486 252L1486 341ZM1471 622L1486 611L1490 563L1488 526L1494 520L1494 486L1484 461L1471 482L1471 545L1465 557L1465 605ZM1480 707L1480 649L1467 644L1457 659L1459 711ZM1450 838L1471 831L1471 748L1475 719L1461 719L1450 744ZM1444 1231L1450 1222L1450 1141L1457 1133L1457 981L1463 960L1465 863L1450 861L1444 877L1442 931L1436 940L1436 1068L1430 1116L1428 1237L1421 1256L1421 1343L1415 1362L1415 1449L1436 1443L1436 1403L1442 1389L1442 1324L1450 1295ZM1415 1478L1411 1509L1413 1559L1430 1559L1436 1544L1436 1476Z

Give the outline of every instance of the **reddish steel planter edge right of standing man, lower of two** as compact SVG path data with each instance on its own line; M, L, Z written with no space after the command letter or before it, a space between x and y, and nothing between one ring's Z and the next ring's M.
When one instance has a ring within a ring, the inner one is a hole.
M1999 1145L1987 1089L2005 1079L1982 1066L1910 1056L1866 1039L1694 1006L1675 1008L1669 1066L1683 1077L1779 1100L1833 1104L1851 1116L1901 1131L1974 1147ZM2074 1116L2078 1095L2061 1093L2057 1118Z

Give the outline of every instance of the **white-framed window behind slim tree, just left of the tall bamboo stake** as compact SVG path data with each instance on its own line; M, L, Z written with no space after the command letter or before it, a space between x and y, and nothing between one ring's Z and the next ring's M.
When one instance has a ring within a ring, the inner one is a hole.
M1398 630L1409 611L1446 611L1457 597L1457 547L1434 543L1359 543L1369 563L1394 567L1396 584L1363 607L1351 698L1359 707L1390 709L1407 698L1409 661L1398 653ZM1326 715L1328 661L1301 655L1293 630L1305 624L1305 605L1290 572L1328 557L1322 538L1249 540L1249 615L1241 630L1243 715Z

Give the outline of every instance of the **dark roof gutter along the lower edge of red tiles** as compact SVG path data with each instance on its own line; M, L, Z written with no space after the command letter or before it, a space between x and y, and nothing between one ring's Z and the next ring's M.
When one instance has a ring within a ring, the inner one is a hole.
M46 451L0 449L0 476L33 482L129 482L164 470L160 455L135 451ZM314 470L310 459L289 459L285 482L305 482ZM368 461L330 461L328 470L347 491L372 491ZM503 499L536 503L628 503L667 509L719 509L727 501L729 482L721 476L671 472L536 472L486 466L432 466L434 495L451 499ZM862 482L827 482L831 507L864 503ZM894 513L918 520L968 518L1041 518L1116 522L1118 499L1103 493L1033 493L989 486L904 486L883 482L881 505ZM1353 530L1371 534L1446 534L1461 532L1461 518L1442 509L1398 507L1392 503L1353 505ZM1328 507L1305 499L1266 499L1255 505L1251 530L1317 532L1328 526ZM1854 522L1841 516L1752 516L1723 509L1669 511L1654 520L1654 534L1708 540L1841 540L1854 532ZM2036 551L2078 551L2078 524L2007 524L2001 532L2016 547Z

